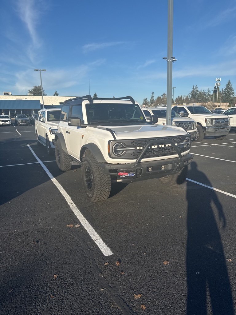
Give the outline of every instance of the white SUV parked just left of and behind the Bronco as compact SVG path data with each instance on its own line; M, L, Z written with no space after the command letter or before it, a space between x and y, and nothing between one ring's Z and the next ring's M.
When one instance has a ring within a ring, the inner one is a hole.
M48 155L55 154L54 137L58 133L61 109L43 108L38 112L38 119L35 120L35 134L38 145L47 147Z

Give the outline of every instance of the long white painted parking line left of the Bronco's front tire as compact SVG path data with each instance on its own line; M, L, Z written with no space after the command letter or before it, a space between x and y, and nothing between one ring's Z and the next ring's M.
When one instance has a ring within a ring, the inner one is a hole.
M49 172L49 170L46 168L46 166L42 163L42 161L37 157L37 155L34 153L34 151L31 149L31 147L28 145L30 151L32 152L33 156L37 159L37 161L40 163L42 168L45 170L45 172L48 174L50 179L52 180L53 184L58 188L59 192L62 194L62 196L65 198L66 202L70 206L70 209L74 212L76 217L81 222L82 226L86 229L88 234L91 236L93 241L98 245L98 248L102 251L104 256L110 256L113 255L110 248L104 243L102 238L98 235L98 233L94 230L94 228L90 225L90 223L85 219L85 217L82 215L82 213L79 211L79 209L76 207L75 203L72 201L70 196L67 194L65 189L59 184L59 182L53 177L53 175Z

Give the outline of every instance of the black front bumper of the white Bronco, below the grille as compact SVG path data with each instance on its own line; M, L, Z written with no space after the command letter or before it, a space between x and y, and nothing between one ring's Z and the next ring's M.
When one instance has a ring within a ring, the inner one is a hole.
M105 164L99 163L102 171L106 175L115 176L119 172L124 170L130 170L135 175L129 178L120 179L122 183L133 182L138 180L147 180L152 178L160 178L167 175L178 173L185 165L191 163L193 159L192 154L186 154L182 157L162 160L162 161L151 161L141 162L138 165L133 164Z

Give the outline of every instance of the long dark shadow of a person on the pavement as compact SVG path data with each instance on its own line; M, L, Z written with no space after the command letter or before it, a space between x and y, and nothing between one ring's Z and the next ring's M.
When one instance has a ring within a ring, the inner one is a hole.
M211 186L209 179L192 162L188 171L190 178L201 176L204 184ZM232 315L233 299L228 278L228 271L212 204L218 211L219 220L225 228L226 220L222 204L216 192L196 189L187 183L188 201L188 239L186 253L187 268L187 315L205 315L209 313L207 301L211 301L213 315ZM207 300L207 290L209 300Z

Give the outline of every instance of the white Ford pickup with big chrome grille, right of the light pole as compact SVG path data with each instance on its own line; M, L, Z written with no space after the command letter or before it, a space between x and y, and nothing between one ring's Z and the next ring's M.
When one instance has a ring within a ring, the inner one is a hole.
M213 114L209 109L200 105L176 105L172 110L182 117L193 118L197 123L198 133L195 141L200 142L204 136L224 139L230 129L230 118L222 114Z

